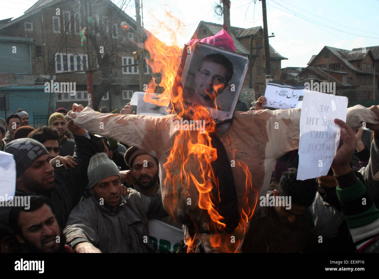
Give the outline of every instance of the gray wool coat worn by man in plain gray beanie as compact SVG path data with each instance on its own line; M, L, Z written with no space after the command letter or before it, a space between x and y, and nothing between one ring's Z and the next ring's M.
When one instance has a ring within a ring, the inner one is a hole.
M167 215L161 195L145 196L134 189L122 197L115 212L94 197L80 202L70 213L67 244L88 241L104 253L154 252L149 240L148 219Z

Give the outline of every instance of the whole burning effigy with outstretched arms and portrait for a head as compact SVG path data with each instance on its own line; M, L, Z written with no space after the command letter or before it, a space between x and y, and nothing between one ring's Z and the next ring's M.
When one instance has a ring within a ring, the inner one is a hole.
M224 30L183 49L147 35L141 46L162 78L150 81L144 101L171 104L172 113L121 115L86 107L74 112L74 124L151 151L159 161L164 209L185 225L187 252L239 252L276 159L298 149L301 109L234 111L247 58L235 53ZM158 85L164 91L156 95ZM366 109L352 109L348 124L364 117L370 118Z

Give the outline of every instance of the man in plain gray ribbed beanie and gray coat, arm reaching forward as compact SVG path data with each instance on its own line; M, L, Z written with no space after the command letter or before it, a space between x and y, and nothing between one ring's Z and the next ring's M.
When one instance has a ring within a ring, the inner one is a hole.
M167 215L160 194L146 197L130 189L122 195L119 170L105 153L92 156L88 177L93 197L71 211L67 244L77 253L153 252L147 219Z

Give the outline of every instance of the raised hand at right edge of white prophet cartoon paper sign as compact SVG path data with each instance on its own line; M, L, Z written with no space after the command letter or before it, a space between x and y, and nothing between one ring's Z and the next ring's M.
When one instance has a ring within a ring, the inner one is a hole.
M350 160L354 154L354 150L356 149L357 138L350 126L344 121L336 118L334 122L341 127L340 141L343 140L343 143L340 145L340 148L338 148L337 153L335 154L332 162L332 169L334 175L340 176L351 171Z

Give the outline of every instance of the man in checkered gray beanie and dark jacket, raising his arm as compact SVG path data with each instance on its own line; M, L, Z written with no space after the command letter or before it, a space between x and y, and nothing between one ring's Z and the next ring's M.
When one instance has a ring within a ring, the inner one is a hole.
M61 228L85 192L88 183L86 170L91 156L103 148L99 137L89 135L84 129L72 125L72 122L69 126L77 142L77 165L74 168L54 169L50 164L49 152L34 139L16 139L5 148L5 152L13 154L16 161L15 196L41 194L49 197ZM9 207L0 207L0 229L13 235L8 223L9 211Z

